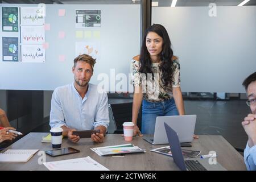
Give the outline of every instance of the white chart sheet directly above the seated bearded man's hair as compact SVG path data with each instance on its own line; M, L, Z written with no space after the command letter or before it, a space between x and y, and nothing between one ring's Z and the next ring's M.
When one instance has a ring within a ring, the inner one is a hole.
M100 45L98 42L76 42L76 56L86 53L94 59L100 59Z

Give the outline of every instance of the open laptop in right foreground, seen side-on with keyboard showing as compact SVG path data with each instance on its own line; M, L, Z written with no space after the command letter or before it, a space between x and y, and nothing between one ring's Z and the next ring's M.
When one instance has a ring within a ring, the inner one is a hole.
M172 158L182 171L226 171L226 169L219 163L209 164L209 158L199 160L184 160L180 148L178 134L170 126L168 126L166 122L164 122L164 127L166 129L167 138L170 144Z

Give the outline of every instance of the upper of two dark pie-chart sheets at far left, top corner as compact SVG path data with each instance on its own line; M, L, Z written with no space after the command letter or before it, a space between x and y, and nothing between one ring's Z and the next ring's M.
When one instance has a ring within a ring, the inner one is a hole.
M2 7L2 30L4 32L18 32L18 7Z

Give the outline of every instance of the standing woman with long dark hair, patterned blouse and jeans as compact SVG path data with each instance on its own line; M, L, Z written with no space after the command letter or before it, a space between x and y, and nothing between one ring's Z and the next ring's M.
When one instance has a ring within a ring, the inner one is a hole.
M148 27L141 55L133 57L134 135L154 134L155 120L163 115L184 115L184 103L180 89L180 64L171 49L166 28L160 24ZM137 126L142 104L142 134Z

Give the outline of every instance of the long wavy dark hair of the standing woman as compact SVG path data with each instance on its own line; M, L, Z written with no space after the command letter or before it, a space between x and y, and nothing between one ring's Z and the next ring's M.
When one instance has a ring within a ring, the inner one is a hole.
M150 53L147 51L146 47L146 37L148 32L155 32L163 38L162 52L160 53L160 60L162 61L160 64L160 70L162 71L161 80L163 81L164 86L167 86L168 84L172 83L172 56L174 55L174 52L171 49L171 40L166 31L166 28L164 28L161 24L153 24L148 27L145 32L141 47L141 55L139 56L139 62L141 64L139 72L146 74L146 76L148 73L151 73L154 78L154 73L151 71L152 63L150 59Z

